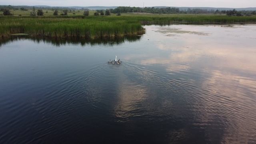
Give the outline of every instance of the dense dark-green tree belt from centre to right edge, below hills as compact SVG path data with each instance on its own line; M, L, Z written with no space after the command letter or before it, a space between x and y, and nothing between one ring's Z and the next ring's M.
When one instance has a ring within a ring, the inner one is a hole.
M128 13L128 12L145 12L153 14L226 14L228 16L250 16L256 14L256 11L236 11L234 10L206 10L206 9L190 9L180 10L179 8L154 8L154 7L126 7L119 6L115 9L110 9L111 13Z

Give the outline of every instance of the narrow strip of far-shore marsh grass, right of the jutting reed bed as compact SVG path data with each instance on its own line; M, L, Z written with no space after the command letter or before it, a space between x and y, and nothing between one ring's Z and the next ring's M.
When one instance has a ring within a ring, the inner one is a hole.
M123 14L143 24L234 24L256 22L256 16L226 16L221 14Z

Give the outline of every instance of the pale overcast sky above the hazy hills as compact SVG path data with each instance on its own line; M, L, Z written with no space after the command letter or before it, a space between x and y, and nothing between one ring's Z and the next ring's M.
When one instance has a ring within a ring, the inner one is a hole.
M256 0L0 0L0 5L256 7Z

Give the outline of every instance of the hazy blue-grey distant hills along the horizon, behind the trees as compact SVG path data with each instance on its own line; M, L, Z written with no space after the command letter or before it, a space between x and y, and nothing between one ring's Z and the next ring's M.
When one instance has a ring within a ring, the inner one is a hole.
M0 6L8 6L8 5L0 5ZM32 7L32 6L15 6L15 7ZM89 9L89 10L106 10L106 9L114 9L118 6L35 6L38 8L72 8L72 9ZM213 7L175 7L175 6L154 6L154 8L179 8L180 10L187 10L190 9L203 9L203 10L233 10L236 9L238 11L240 10L256 10L256 7L254 8L213 8Z

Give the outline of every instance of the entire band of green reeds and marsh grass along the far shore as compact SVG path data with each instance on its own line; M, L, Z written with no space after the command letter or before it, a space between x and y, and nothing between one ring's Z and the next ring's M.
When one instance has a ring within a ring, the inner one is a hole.
M255 23L256 16L209 14L124 14L123 16L0 16L0 37L31 36L104 38L145 33L143 25Z

